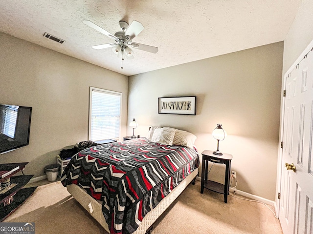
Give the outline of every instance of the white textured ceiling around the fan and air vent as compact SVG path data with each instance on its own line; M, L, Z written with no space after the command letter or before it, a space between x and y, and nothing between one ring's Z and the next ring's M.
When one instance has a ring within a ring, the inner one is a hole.
M210 58L285 39L301 0L0 0L0 31L68 56L130 76ZM144 30L133 42L158 47L134 49L121 60L111 48L92 45L112 39L120 20L137 20ZM47 32L64 44L43 37Z

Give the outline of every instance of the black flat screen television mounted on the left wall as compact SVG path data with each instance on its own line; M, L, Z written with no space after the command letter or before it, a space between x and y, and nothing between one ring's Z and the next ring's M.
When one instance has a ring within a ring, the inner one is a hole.
M28 145L31 107L0 104L0 154Z

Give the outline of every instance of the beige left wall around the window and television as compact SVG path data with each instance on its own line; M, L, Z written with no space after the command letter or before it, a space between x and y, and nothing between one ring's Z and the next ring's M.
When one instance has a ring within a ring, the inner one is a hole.
M122 93L125 136L128 77L3 33L0 64L0 103L33 108L29 145L0 163L29 162L24 173L42 176L60 149L88 140L89 86Z

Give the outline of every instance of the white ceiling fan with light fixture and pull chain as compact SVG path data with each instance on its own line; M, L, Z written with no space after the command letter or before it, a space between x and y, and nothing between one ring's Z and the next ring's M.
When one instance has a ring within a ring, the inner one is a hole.
M128 25L126 21L119 21L119 26L122 31L116 32L114 35L89 20L83 20L83 23L115 40L114 43L94 45L92 48L99 50L112 47L113 52L117 54L118 58L122 59L122 69L124 58L134 59L134 52L130 47L151 53L156 53L158 51L157 47L132 42L134 37L136 37L144 29L143 25L136 20L134 20L130 25Z

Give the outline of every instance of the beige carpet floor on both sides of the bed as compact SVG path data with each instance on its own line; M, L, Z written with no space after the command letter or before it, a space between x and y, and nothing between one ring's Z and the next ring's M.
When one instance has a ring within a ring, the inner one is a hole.
M156 221L152 234L282 234L279 220L265 205L230 195L227 202L208 190L200 194L196 181ZM39 186L3 222L35 222L36 234L107 234L60 181Z

